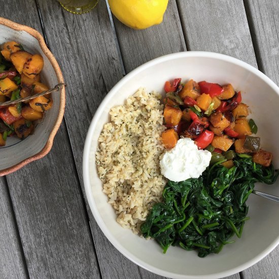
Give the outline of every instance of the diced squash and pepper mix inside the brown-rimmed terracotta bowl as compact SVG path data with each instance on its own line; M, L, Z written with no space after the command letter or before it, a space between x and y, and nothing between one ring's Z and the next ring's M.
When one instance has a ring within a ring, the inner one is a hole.
M17 42L7 42L0 55L0 102L16 100L41 93L49 88L40 82L44 59L31 54ZM30 101L18 102L0 108L0 146L7 137L15 135L21 140L32 133L36 122L52 107L52 97L44 95Z

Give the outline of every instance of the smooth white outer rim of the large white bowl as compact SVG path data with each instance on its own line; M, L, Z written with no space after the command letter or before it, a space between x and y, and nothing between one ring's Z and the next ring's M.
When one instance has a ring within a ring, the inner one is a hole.
M106 224L103 222L102 218L100 217L100 214L98 212L95 200L93 199L93 194L91 190L91 183L90 183L90 175L89 175L89 154L90 154L90 147L92 143L92 136L94 133L94 129L97 124L97 120L102 114L102 111L104 109L104 103L106 102L107 99L110 98L110 96L114 95L120 87L122 87L123 84L126 83L127 80L130 78L134 77L138 73L144 71L146 68L164 62L168 61L171 59L178 59L182 57L203 57L203 58L214 58L217 60L222 60L225 62L229 62L232 64L236 64L242 68L247 69L248 71L252 72L255 74L258 78L262 79L265 83L267 83L278 95L279 95L279 87L271 80L269 79L265 74L260 72L257 68L254 66L241 61L237 58L225 55L225 54L220 54L220 53L215 53L215 52L206 52L206 51L186 51L186 52L178 52L178 53L172 53L172 54L167 54L158 58L155 58L153 60L150 60L149 62L144 63L141 66L138 66L135 68L133 71L131 71L129 74L127 74L125 77L123 77L104 97L102 102L100 103L97 111L95 112L93 119L90 123L90 126L87 131L86 135L86 140L85 140L85 145L84 145L84 151L83 151L83 181L84 181L84 187L85 187L85 193L87 197L87 201L90 206L90 210L100 227L101 231L103 234L109 239L109 241L112 243L112 245L121 253L123 254L126 258L134 262L135 264L147 269L148 271L151 271L153 273L159 274L161 276L169 277L169 278L174 278L174 279L216 279L216 278L221 278L221 277L226 277L233 275L235 273L238 273L244 269L249 268L250 266L256 264L259 262L261 259L263 259L265 256L267 256L273 249L276 248L276 246L279 244L279 234L276 237L276 239L268 246L266 247L261 253L259 253L256 257L253 259L235 267L231 268L226 271L222 272L217 272L217 273L212 273L210 275L185 275L185 274L178 274L178 273L173 273L169 271L163 271L157 267L154 267L150 265L147 262L144 262L140 259L138 259L136 256L134 256L131 252L129 252L127 249L122 247L122 245L119 243L119 241L111 234L109 229L107 228Z

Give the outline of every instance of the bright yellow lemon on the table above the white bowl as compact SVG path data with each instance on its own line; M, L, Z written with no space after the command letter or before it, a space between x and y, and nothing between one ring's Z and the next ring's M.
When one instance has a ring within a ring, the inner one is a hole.
M168 0L109 0L112 13L134 29L145 29L163 21Z

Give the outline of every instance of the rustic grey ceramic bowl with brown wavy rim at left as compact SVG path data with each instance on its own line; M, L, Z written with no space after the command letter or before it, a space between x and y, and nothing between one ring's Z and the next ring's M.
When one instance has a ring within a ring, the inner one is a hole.
M43 56L44 68L41 72L41 79L49 88L64 82L56 59L38 31L0 17L0 45L8 41L16 41L22 44L26 51ZM0 176L7 175L31 161L44 157L51 150L65 110L64 87L60 90L60 94L53 93L52 97L52 108L46 112L43 121L36 126L33 134L23 141L9 137L6 146L0 148Z

